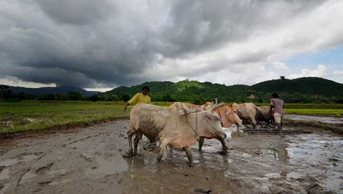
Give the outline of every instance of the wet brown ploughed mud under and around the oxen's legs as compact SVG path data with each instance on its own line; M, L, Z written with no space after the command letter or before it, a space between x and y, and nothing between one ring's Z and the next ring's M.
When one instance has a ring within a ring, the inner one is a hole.
M184 151L124 158L129 120L0 143L3 193L343 193L343 138L325 134L232 132L227 155L217 140ZM285 128L285 130L292 130Z

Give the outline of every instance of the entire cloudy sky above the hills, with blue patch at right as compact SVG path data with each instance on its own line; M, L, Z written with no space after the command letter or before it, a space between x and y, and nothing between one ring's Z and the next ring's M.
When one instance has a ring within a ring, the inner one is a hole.
M343 83L343 1L0 0L0 84Z

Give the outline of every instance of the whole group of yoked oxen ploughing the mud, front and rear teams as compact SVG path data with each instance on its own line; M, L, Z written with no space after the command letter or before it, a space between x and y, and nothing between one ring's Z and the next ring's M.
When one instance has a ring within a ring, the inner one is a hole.
M129 148L125 157L137 154L138 142L146 136L150 142L159 141L157 162L160 162L167 145L184 148L189 166L193 166L190 147L199 141L201 151L204 139L218 139L226 153L224 139L226 135L222 127L230 127L234 123L239 126L250 121L253 128L257 124L273 127L273 116L270 106L257 107L253 103L203 105L175 102L169 107L150 104L137 104L130 112L130 129L128 131ZM247 126L247 125L246 125ZM132 136L135 135L134 148ZM199 138L199 139L198 139Z

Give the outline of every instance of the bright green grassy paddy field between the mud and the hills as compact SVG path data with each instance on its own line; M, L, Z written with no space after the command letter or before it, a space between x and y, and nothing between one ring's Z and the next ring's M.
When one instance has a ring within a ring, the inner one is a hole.
M55 125L90 123L105 119L128 118L133 106L123 111L125 102L91 101L0 101L0 133L39 130ZM168 106L170 103L156 102ZM263 106L268 104L256 104ZM286 104L288 114L343 115L343 104Z

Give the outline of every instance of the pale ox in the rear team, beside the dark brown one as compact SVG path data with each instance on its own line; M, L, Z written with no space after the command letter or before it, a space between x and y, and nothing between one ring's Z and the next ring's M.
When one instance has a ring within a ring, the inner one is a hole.
M237 104L233 103L232 106L236 108L238 116L242 120L250 120L253 123L253 128L257 127L257 122L256 122L256 114L257 110L260 108L257 107L253 103L243 103L243 104ZM239 126L237 125L237 130L239 131Z

